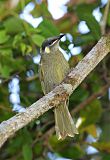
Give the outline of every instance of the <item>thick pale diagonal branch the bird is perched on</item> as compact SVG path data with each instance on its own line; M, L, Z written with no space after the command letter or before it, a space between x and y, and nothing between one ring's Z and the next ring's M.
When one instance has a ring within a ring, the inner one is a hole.
M110 52L110 37L102 37L93 49L71 70L53 91L28 107L25 112L0 124L0 147L16 131L68 98L84 78Z

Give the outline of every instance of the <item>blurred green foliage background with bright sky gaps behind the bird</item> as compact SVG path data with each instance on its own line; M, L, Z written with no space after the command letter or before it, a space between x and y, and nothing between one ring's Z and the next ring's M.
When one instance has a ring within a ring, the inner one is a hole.
M0 0L0 122L43 96L38 78L40 46L66 33L60 46L71 67L101 37L106 0ZM110 12L106 33L110 32ZM74 47L74 48L73 48ZM53 111L11 137L0 160L109 160L110 55L70 97L69 110L79 135L58 141Z

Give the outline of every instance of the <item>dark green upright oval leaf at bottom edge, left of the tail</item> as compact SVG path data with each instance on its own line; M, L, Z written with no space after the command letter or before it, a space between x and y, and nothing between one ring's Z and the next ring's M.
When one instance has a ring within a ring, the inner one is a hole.
M32 148L29 144L25 144L22 149L24 160L32 160Z

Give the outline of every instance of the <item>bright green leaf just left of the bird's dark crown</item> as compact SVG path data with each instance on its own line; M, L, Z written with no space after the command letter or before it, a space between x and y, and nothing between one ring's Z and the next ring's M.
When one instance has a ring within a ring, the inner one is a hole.
M39 47L41 46L44 39L45 38L42 35L39 35L39 34L32 35L32 41Z

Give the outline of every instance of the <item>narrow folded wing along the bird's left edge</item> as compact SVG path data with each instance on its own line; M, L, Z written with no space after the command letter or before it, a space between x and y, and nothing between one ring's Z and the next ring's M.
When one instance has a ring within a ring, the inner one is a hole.
M42 91L43 91L44 94L46 94L45 93L45 86L44 86L44 69L43 69L43 65L42 65L41 62L39 64L39 79L40 79L40 82L41 82Z

